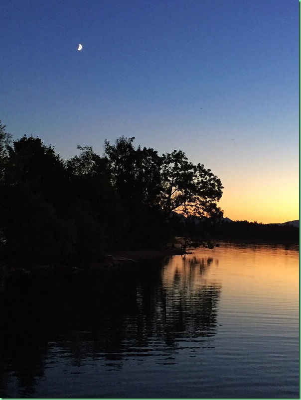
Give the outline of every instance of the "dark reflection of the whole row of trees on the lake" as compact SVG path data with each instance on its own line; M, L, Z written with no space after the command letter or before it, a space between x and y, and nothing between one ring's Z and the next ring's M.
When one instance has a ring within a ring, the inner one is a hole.
M53 355L75 366L89 358L122 368L129 354L213 336L221 292L205 279L213 261L177 256L118 271L11 279L0 309L1 397L34 397ZM11 389L14 377L18 389Z

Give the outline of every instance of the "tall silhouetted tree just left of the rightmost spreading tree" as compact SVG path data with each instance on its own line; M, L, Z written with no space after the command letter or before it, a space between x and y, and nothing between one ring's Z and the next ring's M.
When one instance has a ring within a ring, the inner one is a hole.
M127 215L128 247L160 247L164 224L159 207L161 158L151 148L133 146L134 137L105 141L111 182Z

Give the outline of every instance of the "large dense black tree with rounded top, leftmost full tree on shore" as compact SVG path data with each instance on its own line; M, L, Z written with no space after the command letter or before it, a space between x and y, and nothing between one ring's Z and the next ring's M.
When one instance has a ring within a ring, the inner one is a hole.
M62 160L41 139L8 147L1 205L5 251L25 261L65 261L74 253L72 220L65 218L67 177Z

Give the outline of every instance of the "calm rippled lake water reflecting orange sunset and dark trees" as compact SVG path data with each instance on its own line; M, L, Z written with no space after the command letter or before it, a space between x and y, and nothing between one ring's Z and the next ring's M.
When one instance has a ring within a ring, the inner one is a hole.
M7 283L0 397L299 398L298 250Z

